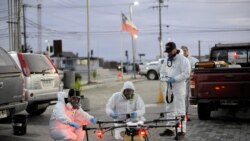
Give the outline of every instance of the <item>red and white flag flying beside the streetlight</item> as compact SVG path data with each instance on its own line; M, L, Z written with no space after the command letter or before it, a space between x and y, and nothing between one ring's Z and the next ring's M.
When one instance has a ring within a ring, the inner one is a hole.
M136 26L128 20L128 18L122 13L122 31L127 31L132 37L137 35L138 29Z

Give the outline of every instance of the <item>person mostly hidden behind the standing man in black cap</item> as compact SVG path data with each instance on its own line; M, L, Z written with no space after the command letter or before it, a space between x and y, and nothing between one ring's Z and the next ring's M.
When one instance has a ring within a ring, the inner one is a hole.
M187 59L188 59L188 61L190 63L191 70L192 70L193 68L195 68L195 63L199 62L199 60L189 55L188 47L181 46L181 49L183 51L183 55L185 57L187 57ZM190 92L190 79L188 78L186 80L186 119L187 119L187 121L191 120L190 116L188 114L190 93L191 93Z

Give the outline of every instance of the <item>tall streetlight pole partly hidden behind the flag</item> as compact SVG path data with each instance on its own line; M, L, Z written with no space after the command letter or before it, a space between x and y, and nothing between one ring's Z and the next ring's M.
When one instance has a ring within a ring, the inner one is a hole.
M133 13L133 9L132 7L133 6L136 6L136 5L139 5L139 2L138 1L134 1L133 3L130 3L129 4L129 18L130 18L130 21L132 22L132 13ZM133 22L132 22L133 23ZM135 52L136 52L136 49L135 49L135 39L137 38L138 36L135 35L134 37L131 36L131 40L132 40L132 51L133 51L133 72L134 72L134 78L136 78L136 70L135 70Z

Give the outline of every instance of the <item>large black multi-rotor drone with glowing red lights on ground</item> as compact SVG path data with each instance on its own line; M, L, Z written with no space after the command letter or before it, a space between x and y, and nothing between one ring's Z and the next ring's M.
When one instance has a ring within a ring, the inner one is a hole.
M98 127L87 127L84 126L83 130L86 131L86 139L89 141L88 131L94 130L96 136L100 139L103 138L104 134L111 131L113 136L113 130L116 128L125 128L125 135L123 136L124 141L149 141L148 134L151 128L164 128L164 127L174 127L175 128L175 139L178 141L177 128L182 130L183 118L176 116L174 119L163 119L164 113L160 113L160 117L151 121L141 121L134 120L130 118L130 114L126 114L127 119L119 121L97 121ZM174 121L174 125L159 125L159 123ZM105 126L109 123L119 123L118 126Z

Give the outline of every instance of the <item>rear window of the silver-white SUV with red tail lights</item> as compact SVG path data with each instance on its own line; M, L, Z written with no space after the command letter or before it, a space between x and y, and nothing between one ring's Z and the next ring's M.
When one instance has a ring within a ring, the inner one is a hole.
M54 73L53 65L44 55L29 54L25 55L31 73Z

